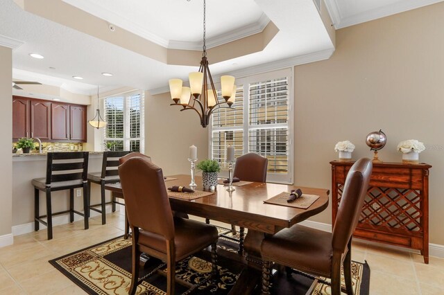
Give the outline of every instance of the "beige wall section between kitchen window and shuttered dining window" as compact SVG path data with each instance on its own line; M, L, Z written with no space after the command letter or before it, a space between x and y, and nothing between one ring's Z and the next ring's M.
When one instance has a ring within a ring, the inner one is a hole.
M208 129L195 111L170 106L169 93L145 93L145 154L164 174L189 173L189 146L196 145L198 160L208 157Z

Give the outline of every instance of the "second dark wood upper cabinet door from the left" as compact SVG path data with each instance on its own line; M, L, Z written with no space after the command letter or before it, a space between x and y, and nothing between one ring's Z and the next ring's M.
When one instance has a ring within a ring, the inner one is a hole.
M51 102L31 100L31 137L51 139Z

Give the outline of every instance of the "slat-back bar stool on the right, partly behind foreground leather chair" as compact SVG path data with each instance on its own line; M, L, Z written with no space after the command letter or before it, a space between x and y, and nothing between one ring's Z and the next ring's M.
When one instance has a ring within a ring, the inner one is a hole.
M117 170L119 159L129 153L130 151L103 152L102 171L88 173L88 215L91 210L101 213L102 224L106 224L106 204L112 204L112 212L116 211L114 197L111 202L105 201L105 184L116 184L120 181L119 170ZM101 202L99 204L91 205L91 183L100 185ZM100 209L96 208L99 206Z

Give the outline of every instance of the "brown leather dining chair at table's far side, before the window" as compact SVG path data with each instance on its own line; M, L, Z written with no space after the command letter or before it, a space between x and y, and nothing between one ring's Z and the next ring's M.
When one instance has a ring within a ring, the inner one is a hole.
M236 159L233 177L237 177L242 181L266 182L267 167L268 159L260 156L259 154L255 154L254 152L248 152L247 154L243 154L241 157ZM205 221L207 224L210 223L210 220L208 219ZM239 241L239 254L244 251L244 231L244 227L239 227L239 240L227 235L230 232L232 235L236 235L237 231L234 224L231 225L231 231L221 233L221 235L223 235L225 238Z

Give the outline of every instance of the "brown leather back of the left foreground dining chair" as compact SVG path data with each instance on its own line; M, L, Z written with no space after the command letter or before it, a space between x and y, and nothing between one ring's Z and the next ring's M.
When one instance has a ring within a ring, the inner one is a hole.
M162 169L133 157L119 166L119 175L130 225L173 239L173 213Z

